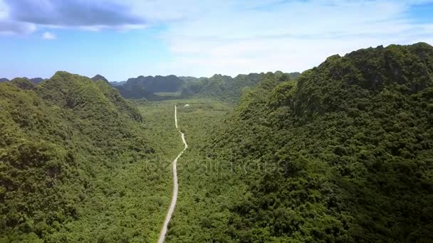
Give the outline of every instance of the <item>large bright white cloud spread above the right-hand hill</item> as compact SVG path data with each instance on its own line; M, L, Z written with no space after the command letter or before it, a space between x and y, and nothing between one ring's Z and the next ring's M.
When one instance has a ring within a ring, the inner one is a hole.
M429 42L432 25L412 23L411 4L427 1L189 1L162 40L174 56L155 69L179 75L302 71L329 55L377 45ZM183 5L183 4L177 4ZM174 11L165 9L165 11ZM158 16L161 17L162 16Z

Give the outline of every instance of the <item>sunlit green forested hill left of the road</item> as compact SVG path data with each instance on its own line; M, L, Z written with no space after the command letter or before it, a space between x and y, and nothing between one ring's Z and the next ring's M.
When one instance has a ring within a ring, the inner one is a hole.
M147 176L152 183L162 176L138 170L154 153L141 123L104 81L57 72L41 85L2 83L0 241L148 241L160 202L127 206L146 201L152 188L132 193L126 183L147 188Z

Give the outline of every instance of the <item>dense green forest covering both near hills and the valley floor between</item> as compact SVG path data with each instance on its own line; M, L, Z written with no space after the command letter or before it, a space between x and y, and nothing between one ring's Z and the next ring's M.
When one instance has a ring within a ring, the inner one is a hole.
M159 102L102 76L2 83L0 242L155 242L174 104L167 242L431 242L432 73L418 43L131 90Z

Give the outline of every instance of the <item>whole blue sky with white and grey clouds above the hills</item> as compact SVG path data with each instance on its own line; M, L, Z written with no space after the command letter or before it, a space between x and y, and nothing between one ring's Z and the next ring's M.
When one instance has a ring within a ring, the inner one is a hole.
M417 42L433 45L433 0L0 0L9 79L302 72Z

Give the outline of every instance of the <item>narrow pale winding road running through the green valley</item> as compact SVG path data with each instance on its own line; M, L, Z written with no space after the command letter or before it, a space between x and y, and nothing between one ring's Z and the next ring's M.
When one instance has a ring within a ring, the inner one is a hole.
M176 105L174 105L174 124L176 125L176 128L179 129L177 127L177 106ZM172 203L170 204L170 207L168 209L167 215L165 216L164 225L162 226L161 233L160 233L160 238L158 239L158 243L163 243L164 242L164 240L165 240L165 234L167 234L168 223L172 219L172 214L173 214L173 211L174 211L174 207L176 207L177 190L178 190L178 187L179 187L177 185L177 159L179 159L180 156L182 156L182 153L184 153L184 151L188 148L187 141L185 140L185 135L180 130L179 130L179 133L180 133L180 136L182 137L182 142L184 143L184 149L182 150L182 152L179 153L179 155L174 159L174 161L172 163L172 171L173 171L173 195L172 195Z

